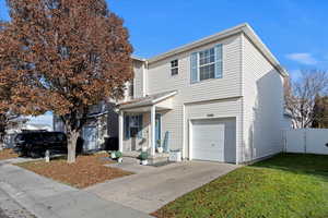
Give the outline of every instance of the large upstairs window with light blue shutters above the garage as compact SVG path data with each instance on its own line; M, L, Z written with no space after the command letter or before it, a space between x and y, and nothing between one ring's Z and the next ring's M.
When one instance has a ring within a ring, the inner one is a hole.
M191 53L191 83L222 77L222 45Z

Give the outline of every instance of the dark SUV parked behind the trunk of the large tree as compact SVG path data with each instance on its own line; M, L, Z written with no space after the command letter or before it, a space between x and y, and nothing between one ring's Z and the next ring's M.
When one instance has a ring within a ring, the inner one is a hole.
M14 150L20 156L44 157L50 154L67 154L67 137L61 132L25 132L14 140Z

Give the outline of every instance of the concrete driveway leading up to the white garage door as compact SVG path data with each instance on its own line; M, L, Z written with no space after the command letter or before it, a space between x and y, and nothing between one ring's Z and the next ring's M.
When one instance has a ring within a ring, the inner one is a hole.
M136 174L124 177L86 189L101 198L152 213L177 197L238 168L235 165L210 161L184 161L163 167L131 165ZM128 166L124 167L126 170Z

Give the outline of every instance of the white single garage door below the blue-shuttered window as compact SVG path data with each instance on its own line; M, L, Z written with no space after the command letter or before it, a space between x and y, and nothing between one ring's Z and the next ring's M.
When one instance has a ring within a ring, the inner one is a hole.
M192 123L192 159L235 161L235 120L195 120Z

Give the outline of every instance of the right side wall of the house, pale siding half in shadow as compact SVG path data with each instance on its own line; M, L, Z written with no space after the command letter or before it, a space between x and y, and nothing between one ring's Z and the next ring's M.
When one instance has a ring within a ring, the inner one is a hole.
M243 35L244 160L282 150L283 77Z

